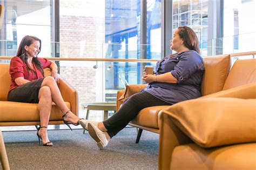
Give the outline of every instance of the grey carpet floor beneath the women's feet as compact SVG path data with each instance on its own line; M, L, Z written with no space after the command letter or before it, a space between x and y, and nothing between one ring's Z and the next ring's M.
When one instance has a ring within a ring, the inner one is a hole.
M48 132L53 147L38 146L36 131L3 132L11 169L157 169L159 135L120 131L104 150L83 130Z

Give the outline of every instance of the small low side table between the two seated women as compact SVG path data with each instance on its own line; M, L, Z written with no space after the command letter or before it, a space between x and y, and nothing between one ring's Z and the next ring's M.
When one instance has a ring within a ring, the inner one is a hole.
M116 112L117 110L117 103L116 102L102 102L102 103L83 103L82 104L83 109L87 109L85 119L88 120L90 110L95 111L104 111L104 117L103 120L106 120L109 114L109 111ZM85 133L85 130L84 132Z

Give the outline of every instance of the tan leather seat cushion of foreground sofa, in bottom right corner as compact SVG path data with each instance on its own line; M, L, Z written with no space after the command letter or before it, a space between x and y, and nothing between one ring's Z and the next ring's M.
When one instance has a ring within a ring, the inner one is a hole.
M196 144L174 148L170 169L256 169L256 144L201 148Z

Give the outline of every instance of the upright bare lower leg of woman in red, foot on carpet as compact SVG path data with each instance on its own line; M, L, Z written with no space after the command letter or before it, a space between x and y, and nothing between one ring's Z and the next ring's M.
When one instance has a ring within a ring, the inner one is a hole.
M51 90L48 86L43 86L39 90L39 103L38 103L38 110L40 114L40 124L41 126L48 127L50 113L51 113L51 106L52 106L52 99L51 99ZM38 134L41 136L43 144L49 142L47 128L40 128Z

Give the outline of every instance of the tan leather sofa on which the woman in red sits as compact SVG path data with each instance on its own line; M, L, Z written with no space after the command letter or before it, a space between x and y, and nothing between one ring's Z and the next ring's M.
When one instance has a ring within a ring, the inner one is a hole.
M45 76L50 76L50 69L44 69ZM40 125L38 104L6 101L11 83L9 64L0 63L0 126ZM59 90L66 105L78 116L78 94L75 89L60 78ZM63 124L60 110L52 103L49 124Z

